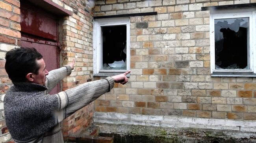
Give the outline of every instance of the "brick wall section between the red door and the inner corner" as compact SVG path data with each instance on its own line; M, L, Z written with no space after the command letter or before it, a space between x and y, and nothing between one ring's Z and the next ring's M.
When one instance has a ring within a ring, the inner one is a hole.
M63 18L61 27L62 65L72 62L74 58L76 60L74 71L63 80L64 91L93 80L93 4L87 0L59 0L57 4L72 11L72 16ZM64 140L68 135L78 134L91 124L93 107L91 103L63 121Z

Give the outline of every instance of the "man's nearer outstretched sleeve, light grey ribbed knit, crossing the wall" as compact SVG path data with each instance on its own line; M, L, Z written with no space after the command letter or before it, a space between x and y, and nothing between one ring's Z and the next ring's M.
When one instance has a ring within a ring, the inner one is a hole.
M59 92L58 122L70 116L77 110L85 107L102 94L109 92L114 87L114 79L106 79L83 83L72 89Z

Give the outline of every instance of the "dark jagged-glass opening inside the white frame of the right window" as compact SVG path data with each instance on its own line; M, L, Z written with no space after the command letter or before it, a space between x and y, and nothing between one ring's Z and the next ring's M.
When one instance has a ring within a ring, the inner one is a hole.
M215 69L249 69L249 18L214 20Z

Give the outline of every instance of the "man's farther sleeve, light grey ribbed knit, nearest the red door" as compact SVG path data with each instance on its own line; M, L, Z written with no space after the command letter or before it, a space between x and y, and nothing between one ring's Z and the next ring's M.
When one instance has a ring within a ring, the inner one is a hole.
M48 88L46 93L52 91L52 89L59 83L59 81L63 80L67 75L71 74L71 67L69 65L65 65L59 69L55 69L49 72L46 76L45 85Z

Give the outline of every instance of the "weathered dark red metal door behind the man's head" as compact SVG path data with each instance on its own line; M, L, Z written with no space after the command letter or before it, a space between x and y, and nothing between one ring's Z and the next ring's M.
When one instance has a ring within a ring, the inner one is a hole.
M24 0L20 2L20 17L21 46L37 49L48 71L59 68L58 17ZM58 83L50 94L59 91Z

